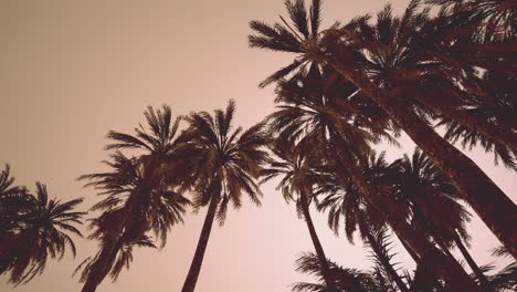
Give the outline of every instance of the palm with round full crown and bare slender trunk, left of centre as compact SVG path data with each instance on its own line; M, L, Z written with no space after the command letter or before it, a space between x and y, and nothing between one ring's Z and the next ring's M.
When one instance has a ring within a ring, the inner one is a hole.
M255 205L261 204L262 192L255 179L268 161L262 149L268 136L264 124L231 132L234 112L235 103L230 101L226 111L217 109L213 116L200 112L186 117L189 128L182 142L192 169L186 185L192 187L194 207L208 206L208 211L182 292L194 291L214 218L223 225L229 204L240 208L243 192Z

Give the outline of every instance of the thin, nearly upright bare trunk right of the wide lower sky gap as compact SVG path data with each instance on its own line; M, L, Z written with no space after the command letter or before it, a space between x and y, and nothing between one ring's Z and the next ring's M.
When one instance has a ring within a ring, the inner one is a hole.
M328 265L327 257L325 255L321 242L319 241L318 234L316 233L316 228L313 223L313 218L310 217L309 206L307 202L307 197L305 194L300 195L302 210L304 212L305 222L309 230L310 239L313 240L314 249L319 260L319 265L321 267L321 274L325 279L325 284L327 285L328 291L337 291L336 283L330 275L330 267Z

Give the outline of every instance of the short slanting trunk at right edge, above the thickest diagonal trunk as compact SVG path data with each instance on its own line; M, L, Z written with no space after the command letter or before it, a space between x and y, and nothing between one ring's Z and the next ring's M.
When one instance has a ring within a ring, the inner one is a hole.
M504 131L500 127L472 114L467 114L464 111L457 111L454 106L444 105L434 96L426 96L425 94L419 93L412 94L412 96L415 96L421 103L440 113L442 116L455 121L469 129L479 132L483 136L506 145L514 152L517 152L517 134L513 133L511 129Z

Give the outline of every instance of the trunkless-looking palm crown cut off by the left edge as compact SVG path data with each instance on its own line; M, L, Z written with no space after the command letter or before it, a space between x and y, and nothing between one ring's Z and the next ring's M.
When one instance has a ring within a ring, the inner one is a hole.
M2 175L2 182L8 181L3 187L13 181L4 179L9 177L9 167ZM85 215L74 211L82 198L64 202L49 199L46 187L41 182L36 182L35 195L24 188L15 194L17 189L3 188L0 199L0 209L11 210L1 218L1 226L8 229L1 236L0 273L10 271L9 282L15 285L41 274L49 257L61 260L67 247L75 257L75 244L68 234L82 237L75 225L82 225ZM7 196L11 199L3 200Z

